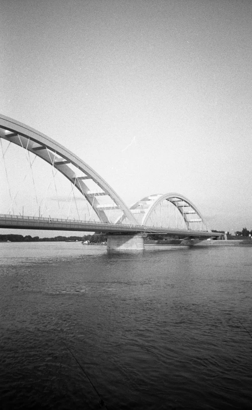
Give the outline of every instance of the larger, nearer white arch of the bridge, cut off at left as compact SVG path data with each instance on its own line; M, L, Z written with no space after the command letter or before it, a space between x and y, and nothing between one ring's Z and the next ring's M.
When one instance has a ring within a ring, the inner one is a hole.
M12 118L0 115L0 138L10 141L22 148L33 152L51 166L61 172L86 198L92 206L101 222L108 222L104 212L105 209L111 209L101 206L97 201L97 196L108 195L116 204L114 209L118 209L123 214L123 219L127 218L131 224L137 224L136 219L130 209L125 205L115 191L101 178L91 167L73 152L63 145L49 138L47 135L22 124ZM77 169L85 174L85 177L78 179L77 175L67 165L71 163ZM98 193L90 192L84 180L93 180L101 189ZM103 209L102 209L103 208Z

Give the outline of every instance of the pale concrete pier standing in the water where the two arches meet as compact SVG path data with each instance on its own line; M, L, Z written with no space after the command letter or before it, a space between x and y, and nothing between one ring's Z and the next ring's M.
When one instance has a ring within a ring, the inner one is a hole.
M144 251L144 237L142 234L110 234L107 235L107 252Z

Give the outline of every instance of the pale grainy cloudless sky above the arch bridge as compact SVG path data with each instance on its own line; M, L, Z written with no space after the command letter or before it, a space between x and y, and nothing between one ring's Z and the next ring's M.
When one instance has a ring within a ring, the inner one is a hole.
M177 192L212 229L252 229L250 0L0 10L2 114L77 153L129 206Z

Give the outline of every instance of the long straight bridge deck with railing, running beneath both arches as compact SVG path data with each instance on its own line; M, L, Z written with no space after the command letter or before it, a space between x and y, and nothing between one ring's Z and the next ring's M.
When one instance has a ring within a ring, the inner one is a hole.
M43 218L21 215L0 214L0 228L13 229L45 229L45 230L69 230L82 232L111 232L111 233L164 233L168 235L193 236L193 237L217 237L220 232L208 232L189 229L168 229L163 227L111 224L102 222L78 221L70 219Z

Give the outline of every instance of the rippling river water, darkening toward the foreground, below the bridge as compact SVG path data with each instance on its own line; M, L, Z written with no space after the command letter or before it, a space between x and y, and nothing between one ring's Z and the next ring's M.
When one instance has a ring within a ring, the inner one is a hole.
M3 409L252 402L252 248L0 243Z

